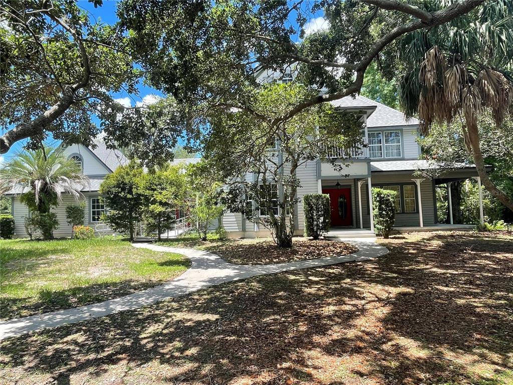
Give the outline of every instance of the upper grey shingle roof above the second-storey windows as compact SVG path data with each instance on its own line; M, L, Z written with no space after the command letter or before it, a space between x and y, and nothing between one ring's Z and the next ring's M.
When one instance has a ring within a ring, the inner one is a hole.
M401 111L385 106L379 102L357 95L356 98L350 96L334 100L331 102L334 107L342 108L365 108L376 107L374 112L367 118L367 127L387 127L387 126L411 126L418 125L419 121L415 118L406 119Z

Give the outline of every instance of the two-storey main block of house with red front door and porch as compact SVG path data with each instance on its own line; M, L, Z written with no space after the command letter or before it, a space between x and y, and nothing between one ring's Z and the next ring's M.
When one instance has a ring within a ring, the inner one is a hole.
M352 163L342 171L321 159L309 161L298 169L301 187L298 188L297 234L304 231L301 198L306 194L329 195L332 227L373 230L370 188L394 190L398 192L396 227L421 229L437 224L437 185L469 178L480 182L475 166L465 164L435 179L415 176L419 169L436 167L431 162L419 160L421 148L416 141L419 136L416 119L406 120L402 112L362 96L342 98L332 105L335 109L350 110L360 115L364 127L363 140L368 147L353 149ZM226 213L222 224L232 237L268 235L267 229L249 222L238 213Z

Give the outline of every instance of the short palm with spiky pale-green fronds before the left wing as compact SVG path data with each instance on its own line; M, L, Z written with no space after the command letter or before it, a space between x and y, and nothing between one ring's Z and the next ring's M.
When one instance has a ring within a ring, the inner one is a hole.
M80 198L81 189L89 181L61 147L18 151L0 170L0 180L11 187L22 187L22 202L40 214L49 213L52 206L61 203L63 194Z

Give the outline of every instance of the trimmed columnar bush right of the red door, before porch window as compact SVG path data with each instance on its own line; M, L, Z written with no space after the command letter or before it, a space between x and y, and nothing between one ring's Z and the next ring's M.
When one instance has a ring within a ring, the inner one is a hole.
M372 214L374 215L374 232L388 238L396 219L397 192L374 187L372 189Z

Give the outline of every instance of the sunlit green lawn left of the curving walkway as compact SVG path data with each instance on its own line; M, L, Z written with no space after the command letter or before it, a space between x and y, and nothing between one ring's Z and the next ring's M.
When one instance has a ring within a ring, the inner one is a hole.
M182 255L157 253L114 238L0 240L2 319L120 297L184 272Z

